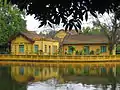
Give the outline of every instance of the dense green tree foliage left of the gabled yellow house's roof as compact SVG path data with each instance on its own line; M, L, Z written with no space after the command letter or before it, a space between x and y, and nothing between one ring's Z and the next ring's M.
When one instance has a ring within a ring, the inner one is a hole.
M10 3L0 3L0 43L5 44L10 37L18 32L26 30L25 12L21 12L17 6Z

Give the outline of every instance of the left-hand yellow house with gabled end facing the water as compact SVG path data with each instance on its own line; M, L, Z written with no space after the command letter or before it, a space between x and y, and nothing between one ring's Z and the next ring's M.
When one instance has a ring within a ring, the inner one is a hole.
M44 54L53 55L57 53L59 42L50 38L39 36L34 31L20 32L11 43L11 54Z

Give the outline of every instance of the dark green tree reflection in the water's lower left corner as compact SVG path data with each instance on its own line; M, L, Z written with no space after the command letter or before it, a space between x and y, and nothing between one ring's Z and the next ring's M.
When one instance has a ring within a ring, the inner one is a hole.
M10 73L10 67L0 67L0 90L27 90L26 84L13 80Z

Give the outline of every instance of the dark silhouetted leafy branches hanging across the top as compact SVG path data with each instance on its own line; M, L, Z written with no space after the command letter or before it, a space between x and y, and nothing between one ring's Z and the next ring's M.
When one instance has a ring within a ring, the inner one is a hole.
M4 0L2 0L4 1ZM35 19L40 21L40 27L51 23L59 25L64 23L65 29L73 27L81 29L81 22L88 19L88 13L97 17L97 13L110 13L119 10L120 0L8 0L12 4L25 9L27 14L35 14ZM70 17L68 19L68 17ZM118 15L117 18L119 18Z

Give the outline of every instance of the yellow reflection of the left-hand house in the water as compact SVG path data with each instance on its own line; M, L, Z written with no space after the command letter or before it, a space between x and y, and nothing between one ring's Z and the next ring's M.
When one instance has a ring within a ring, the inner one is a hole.
M11 76L18 82L42 81L59 78L59 72L56 67L12 66Z

